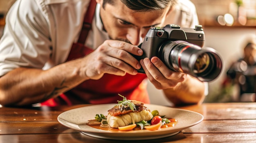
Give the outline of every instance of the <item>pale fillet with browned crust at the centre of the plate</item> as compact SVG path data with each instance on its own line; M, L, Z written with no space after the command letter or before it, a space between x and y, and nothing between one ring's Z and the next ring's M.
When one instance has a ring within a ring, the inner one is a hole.
M110 127L118 128L137 123L142 120L149 121L153 115L150 110L144 106L142 102L132 100L136 106L136 110L132 111L129 107L124 106L122 109L115 106L108 110L107 121Z

